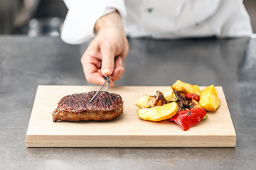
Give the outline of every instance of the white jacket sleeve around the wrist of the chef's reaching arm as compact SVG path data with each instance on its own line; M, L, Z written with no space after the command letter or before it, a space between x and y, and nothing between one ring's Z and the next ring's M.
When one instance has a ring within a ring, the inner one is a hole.
M63 0L68 8L61 29L61 39L68 44L81 44L95 37L95 23L107 13L117 10L126 18L124 0Z

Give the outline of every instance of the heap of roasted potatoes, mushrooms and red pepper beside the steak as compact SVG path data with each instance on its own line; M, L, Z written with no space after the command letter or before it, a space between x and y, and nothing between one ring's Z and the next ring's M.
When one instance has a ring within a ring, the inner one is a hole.
M137 106L141 107L137 110L139 118L153 122L175 121L186 131L206 119L206 111L215 111L220 99L214 85L200 91L197 85L177 80L164 93L156 91L156 96L142 96Z

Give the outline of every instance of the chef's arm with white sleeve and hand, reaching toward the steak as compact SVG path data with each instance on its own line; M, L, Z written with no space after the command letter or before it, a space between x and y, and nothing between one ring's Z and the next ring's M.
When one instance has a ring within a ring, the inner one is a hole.
M61 30L62 40L81 44L94 38L81 58L85 77L90 83L103 84L102 74L110 75L110 85L114 85L122 77L129 49L122 27L127 16L124 0L63 1L68 13Z

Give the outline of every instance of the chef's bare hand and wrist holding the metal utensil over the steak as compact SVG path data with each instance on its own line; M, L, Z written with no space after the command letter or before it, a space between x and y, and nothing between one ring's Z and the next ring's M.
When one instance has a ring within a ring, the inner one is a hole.
M119 13L114 11L102 16L95 23L95 30L97 35L81 58L85 78L102 85L105 83L102 75L110 76L110 86L113 86L124 73L124 59L129 50Z

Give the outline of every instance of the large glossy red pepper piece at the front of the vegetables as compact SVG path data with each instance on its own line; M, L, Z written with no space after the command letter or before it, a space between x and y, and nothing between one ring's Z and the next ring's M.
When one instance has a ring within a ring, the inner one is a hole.
M195 125L206 116L206 111L202 108L193 108L188 111L179 111L170 119L175 121L183 128L184 131L189 130L192 125Z

